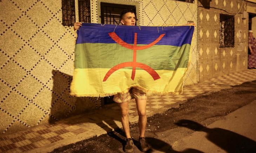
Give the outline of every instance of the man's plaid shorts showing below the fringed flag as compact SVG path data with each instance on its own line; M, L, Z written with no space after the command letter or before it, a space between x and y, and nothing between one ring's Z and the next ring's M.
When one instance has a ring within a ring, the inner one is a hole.
M117 103L124 103L132 98L139 99L139 100L146 100L147 94L136 87L132 87L127 93L117 93L114 95L113 101Z

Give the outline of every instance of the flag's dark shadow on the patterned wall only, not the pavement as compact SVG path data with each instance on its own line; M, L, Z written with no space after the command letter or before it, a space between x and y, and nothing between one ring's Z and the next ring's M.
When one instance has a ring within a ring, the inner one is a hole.
M95 98L69 95L72 76L57 70L52 70L52 74L53 87L49 123L100 107L97 106Z

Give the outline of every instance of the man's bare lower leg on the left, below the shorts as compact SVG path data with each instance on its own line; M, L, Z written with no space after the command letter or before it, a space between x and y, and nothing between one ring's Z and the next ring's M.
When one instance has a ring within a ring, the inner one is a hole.
M124 102L124 103L120 103L119 106L120 106L121 114L122 114L121 122L122 122L122 125L123 125L123 130L124 130L124 133L126 135L126 138L128 139L128 138L131 138L130 128L129 128L129 115L128 115L129 101Z

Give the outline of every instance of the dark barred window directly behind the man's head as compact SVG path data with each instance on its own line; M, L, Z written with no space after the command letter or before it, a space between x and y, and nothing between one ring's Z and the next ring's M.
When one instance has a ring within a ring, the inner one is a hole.
M101 7L101 23L104 23L104 24L121 25L120 13L122 12L122 10L134 9L134 11L136 11L136 7L132 5L121 5L121 4L101 2L100 7Z

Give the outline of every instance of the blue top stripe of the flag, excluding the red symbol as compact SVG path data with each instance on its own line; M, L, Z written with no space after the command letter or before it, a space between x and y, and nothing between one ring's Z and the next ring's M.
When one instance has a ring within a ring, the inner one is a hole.
M116 43L108 33L115 32L124 42L134 43L134 33L137 33L137 44L150 44L161 34L164 37L156 45L182 46L191 44L194 26L126 26L96 23L82 23L77 31L76 44L83 43ZM79 34L80 33L80 34Z

